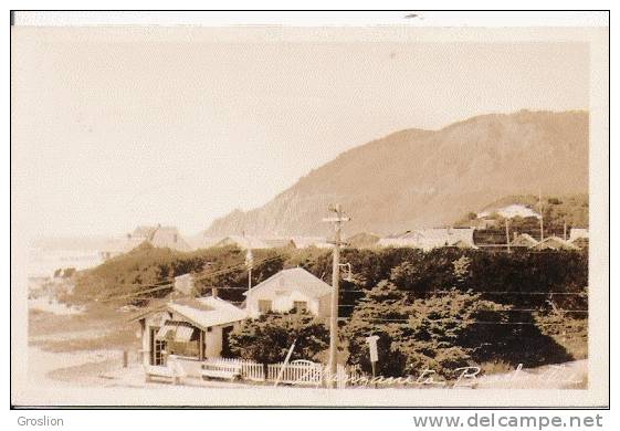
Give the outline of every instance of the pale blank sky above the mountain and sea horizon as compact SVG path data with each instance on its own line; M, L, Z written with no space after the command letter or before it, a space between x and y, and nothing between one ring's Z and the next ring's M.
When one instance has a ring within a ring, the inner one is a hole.
M397 130L589 105L585 43L108 32L13 29L13 203L33 234L192 234Z

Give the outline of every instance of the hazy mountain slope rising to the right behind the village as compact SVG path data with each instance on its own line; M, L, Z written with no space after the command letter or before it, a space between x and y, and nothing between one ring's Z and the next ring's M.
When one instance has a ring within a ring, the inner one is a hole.
M528 112L408 129L350 149L265 206L216 220L208 235L326 234L329 203L348 233L450 224L509 195L588 191L588 114Z

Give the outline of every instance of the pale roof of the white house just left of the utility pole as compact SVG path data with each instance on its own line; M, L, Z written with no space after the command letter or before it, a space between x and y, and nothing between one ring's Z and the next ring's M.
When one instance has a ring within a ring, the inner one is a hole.
M332 286L323 280L311 274L303 267L282 270L252 288L252 294L264 290L284 292L301 292L304 295L317 298L332 293ZM248 295L248 292L244 293Z

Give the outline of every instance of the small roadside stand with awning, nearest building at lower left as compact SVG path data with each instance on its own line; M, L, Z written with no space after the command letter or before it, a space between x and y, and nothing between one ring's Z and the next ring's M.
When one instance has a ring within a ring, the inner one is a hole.
M245 311L213 296L179 297L134 317L140 324L145 366L164 366L175 355L190 376L200 376L207 358L228 355L230 333Z

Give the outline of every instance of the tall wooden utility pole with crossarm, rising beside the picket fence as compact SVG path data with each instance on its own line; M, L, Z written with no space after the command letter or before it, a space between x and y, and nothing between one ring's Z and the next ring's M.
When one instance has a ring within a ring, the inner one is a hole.
M335 378L338 371L338 287L340 281L340 245L343 222L349 221L348 217L343 217L340 204L329 207L329 211L335 212L336 217L323 219L325 222L334 224L334 261L332 263L332 314L329 317L329 381L328 387L335 387Z

